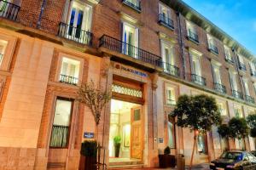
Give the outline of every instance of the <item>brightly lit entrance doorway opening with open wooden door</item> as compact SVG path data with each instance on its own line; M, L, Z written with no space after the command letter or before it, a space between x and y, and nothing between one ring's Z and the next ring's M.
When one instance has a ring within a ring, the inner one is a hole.
M118 155L114 139L120 140ZM134 163L143 160L143 107L112 99L109 128L109 162Z

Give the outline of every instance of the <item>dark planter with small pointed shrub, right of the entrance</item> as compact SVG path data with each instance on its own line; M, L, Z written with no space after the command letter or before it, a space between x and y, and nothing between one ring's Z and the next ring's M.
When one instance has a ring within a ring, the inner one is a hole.
M170 154L171 149L169 146L167 146L166 149L164 150L164 154L159 155L159 165L161 168L176 166L175 156L172 156Z

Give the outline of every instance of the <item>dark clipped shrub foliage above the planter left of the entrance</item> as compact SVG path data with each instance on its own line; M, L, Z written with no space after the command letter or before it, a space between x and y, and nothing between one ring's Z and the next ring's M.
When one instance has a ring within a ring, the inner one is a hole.
M97 143L95 140L84 140L81 146L80 154L82 156L96 156L97 155Z

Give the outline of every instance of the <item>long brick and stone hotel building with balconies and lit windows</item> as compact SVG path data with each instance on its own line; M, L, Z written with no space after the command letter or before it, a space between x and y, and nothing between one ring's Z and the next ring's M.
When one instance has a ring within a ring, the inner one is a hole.
M96 133L75 100L90 80L113 94L98 133L108 167L158 167L167 145L189 160L193 133L168 116L178 96L215 97L224 122L255 113L255 62L179 0L0 0L0 169L78 169L80 144ZM213 128L195 161L226 148L255 145Z

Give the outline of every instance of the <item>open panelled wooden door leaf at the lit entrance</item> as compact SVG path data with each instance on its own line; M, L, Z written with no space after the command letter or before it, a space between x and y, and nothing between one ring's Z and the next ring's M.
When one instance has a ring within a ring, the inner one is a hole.
M142 106L131 108L131 158L143 158Z

